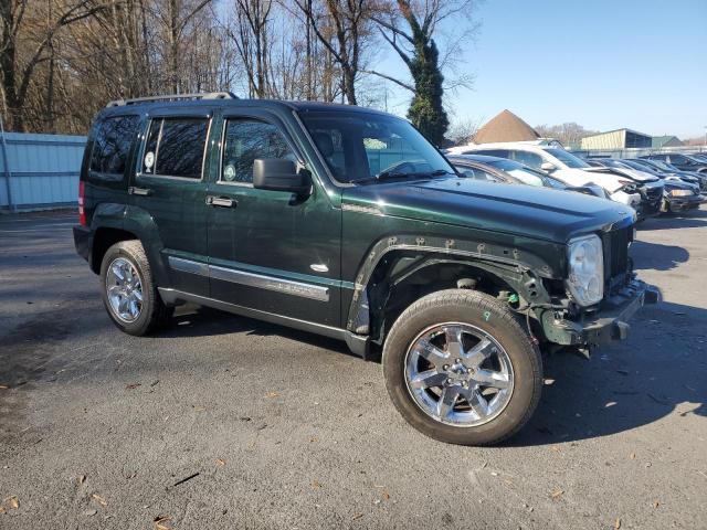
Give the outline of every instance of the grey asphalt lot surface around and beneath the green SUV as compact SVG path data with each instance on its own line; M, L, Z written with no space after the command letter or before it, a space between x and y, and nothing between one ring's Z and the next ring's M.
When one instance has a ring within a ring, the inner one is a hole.
M0 528L707 528L707 211L641 226L665 301L546 359L492 448L409 427L344 344L214 310L120 333L74 216L0 218Z

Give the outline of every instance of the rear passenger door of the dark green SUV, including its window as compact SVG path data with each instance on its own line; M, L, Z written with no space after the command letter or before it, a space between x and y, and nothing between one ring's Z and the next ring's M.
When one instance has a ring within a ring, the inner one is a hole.
M203 203L211 121L211 112L203 107L166 109L148 116L139 170L128 190L133 205L157 225L169 287L201 296L209 293L209 279L203 274L208 261Z

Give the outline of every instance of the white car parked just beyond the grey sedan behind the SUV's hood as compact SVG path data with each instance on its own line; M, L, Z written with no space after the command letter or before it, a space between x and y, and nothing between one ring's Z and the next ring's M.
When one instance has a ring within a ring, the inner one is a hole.
M527 142L472 144L453 147L446 152L449 155L488 155L516 160L545 171L568 186L599 184L606 190L612 201L640 209L641 194L635 189L635 182L613 171L592 168L561 147Z

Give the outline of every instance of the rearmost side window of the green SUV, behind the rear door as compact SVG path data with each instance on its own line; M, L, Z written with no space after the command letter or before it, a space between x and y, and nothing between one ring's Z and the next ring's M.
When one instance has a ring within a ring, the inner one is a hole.
M118 176L125 173L138 121L138 116L116 116L101 123L91 156L91 171Z

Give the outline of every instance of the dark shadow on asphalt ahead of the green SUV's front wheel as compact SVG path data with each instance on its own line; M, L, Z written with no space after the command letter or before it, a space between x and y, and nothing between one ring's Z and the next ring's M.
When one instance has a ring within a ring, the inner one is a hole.
M707 310L661 303L644 308L625 343L589 361L545 360L544 393L530 423L507 445L606 436L679 416L707 416Z

